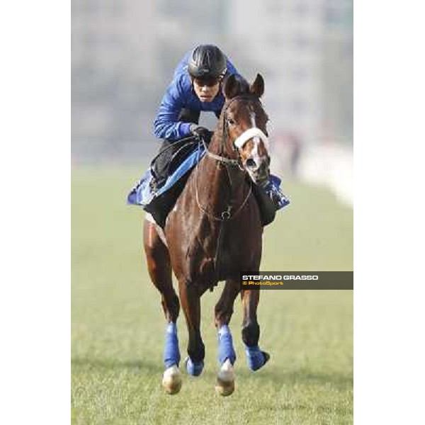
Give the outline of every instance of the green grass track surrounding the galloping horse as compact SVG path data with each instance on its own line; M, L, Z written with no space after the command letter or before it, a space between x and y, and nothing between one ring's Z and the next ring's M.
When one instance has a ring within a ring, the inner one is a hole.
M213 307L202 299L205 369L183 372L179 395L161 386L165 320L142 256L142 217L125 205L143 169L72 170L72 424L351 424L353 292L264 290L261 348L271 361L252 373L230 328L236 390L215 394ZM266 227L261 270L353 270L353 210L323 188L288 182L292 204ZM187 333L179 317L181 354Z

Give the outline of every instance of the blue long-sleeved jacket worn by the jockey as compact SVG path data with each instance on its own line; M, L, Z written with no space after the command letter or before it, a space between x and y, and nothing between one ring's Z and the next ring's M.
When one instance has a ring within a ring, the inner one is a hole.
M201 102L193 91L191 77L188 74L188 60L191 52L187 52L174 71L173 81L162 98L157 118L154 120L154 135L159 139L178 140L190 135L190 123L179 121L179 113L183 108L191 111L212 111L219 114L225 103L221 90L212 102ZM239 74L227 58L227 76Z

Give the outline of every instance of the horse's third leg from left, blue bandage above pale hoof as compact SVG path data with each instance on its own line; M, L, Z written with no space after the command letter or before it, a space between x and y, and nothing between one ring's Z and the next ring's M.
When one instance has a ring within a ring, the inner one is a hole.
M232 334L228 325L233 314L234 299L237 297L239 290L238 279L226 280L220 300L215 305L215 326L218 331L218 361L220 362L215 390L220 395L231 395L234 392L233 365L234 361L236 361L236 354L234 353Z

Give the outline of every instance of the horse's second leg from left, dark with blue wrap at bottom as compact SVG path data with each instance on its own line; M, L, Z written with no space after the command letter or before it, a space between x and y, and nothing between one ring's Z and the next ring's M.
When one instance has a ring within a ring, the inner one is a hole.
M190 375L198 376L203 370L205 346L200 336L200 293L193 283L179 281L181 307L188 327L188 358L186 370Z

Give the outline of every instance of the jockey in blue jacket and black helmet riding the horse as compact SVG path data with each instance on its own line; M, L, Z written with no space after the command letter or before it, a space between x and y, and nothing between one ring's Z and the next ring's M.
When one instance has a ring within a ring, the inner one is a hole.
M162 98L157 118L154 120L154 135L164 139L160 154L152 166L153 188L162 186L168 177L167 169L176 149L176 140L198 135L210 142L212 132L199 125L201 111L212 111L220 117L225 96L221 86L225 77L237 74L232 62L215 45L199 45L186 53L174 71L173 80ZM276 210L289 201L280 192L272 179L264 186Z

